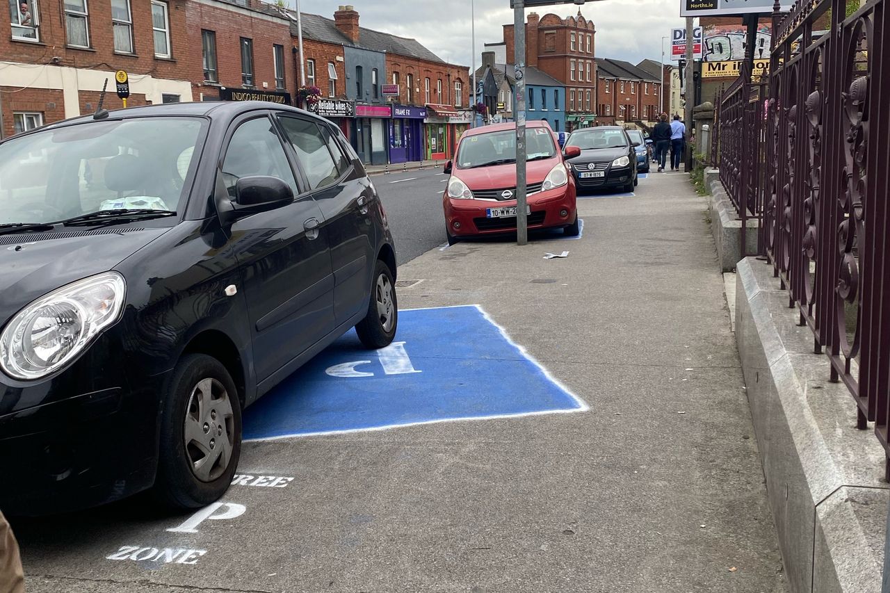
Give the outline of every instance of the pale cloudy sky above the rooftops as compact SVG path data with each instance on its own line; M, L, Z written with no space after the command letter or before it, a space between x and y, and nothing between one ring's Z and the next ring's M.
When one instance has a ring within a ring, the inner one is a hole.
M286 0L293 8L296 0ZM482 45L503 40L503 28L513 22L509 0L473 0L476 21L476 63ZM414 37L442 60L469 66L472 62L471 0L300 0L303 12L333 18L337 6L352 4L362 27ZM595 54L637 63L661 59L661 37L672 27L684 27L680 0L606 0L588 2L581 13L596 26ZM546 10L545 10L546 9ZM530 10L526 12L532 12ZM565 18L578 13L575 4L558 4L535 10ZM668 52L665 41L665 52ZM669 57L666 54L666 61Z

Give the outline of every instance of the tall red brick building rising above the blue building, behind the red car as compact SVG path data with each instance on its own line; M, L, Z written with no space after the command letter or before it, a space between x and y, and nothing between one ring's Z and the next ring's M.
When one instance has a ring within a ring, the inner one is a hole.
M589 126L596 117L596 28L578 10L562 19L530 12L525 24L526 64L565 85L566 128ZM514 56L514 26L504 25L509 60Z

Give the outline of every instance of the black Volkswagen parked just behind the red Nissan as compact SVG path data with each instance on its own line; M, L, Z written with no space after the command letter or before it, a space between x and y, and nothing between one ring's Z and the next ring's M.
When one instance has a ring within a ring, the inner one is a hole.
M579 157L570 158L578 193L616 188L634 191L637 183L635 143L620 126L583 127L565 141L565 147L577 146Z

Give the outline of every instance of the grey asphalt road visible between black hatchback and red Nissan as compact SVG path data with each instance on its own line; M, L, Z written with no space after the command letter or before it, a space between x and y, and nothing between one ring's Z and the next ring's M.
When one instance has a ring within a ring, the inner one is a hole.
M371 177L395 239L396 263L406 264L445 242L442 191L448 175L422 169Z

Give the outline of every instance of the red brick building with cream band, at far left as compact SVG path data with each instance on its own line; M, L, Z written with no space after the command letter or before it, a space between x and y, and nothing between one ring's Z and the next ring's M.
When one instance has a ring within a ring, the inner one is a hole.
M0 9L0 130L30 129L118 108L114 73L130 73L130 105L190 101L184 0L22 0ZM22 10L24 5L25 10ZM112 9L113 7L113 9Z

